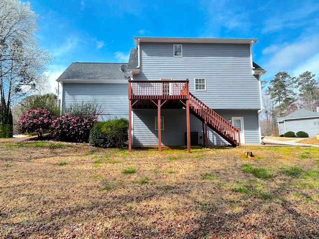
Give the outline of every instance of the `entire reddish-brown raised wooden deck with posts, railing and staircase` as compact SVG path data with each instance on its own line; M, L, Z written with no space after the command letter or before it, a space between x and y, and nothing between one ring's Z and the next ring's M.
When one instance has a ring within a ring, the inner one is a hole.
M132 150L132 110L157 109L158 125L160 125L161 109L186 109L187 150L190 152L190 116L202 121L203 141L208 146L207 126L226 139L233 146L240 145L239 130L223 119L202 101L189 93L189 81L161 80L135 81L129 80L129 151ZM161 131L158 129L159 151L161 151Z

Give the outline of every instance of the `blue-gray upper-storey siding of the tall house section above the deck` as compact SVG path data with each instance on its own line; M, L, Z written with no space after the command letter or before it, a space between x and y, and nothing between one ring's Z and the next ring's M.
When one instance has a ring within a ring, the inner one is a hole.
M188 78L190 92L212 109L260 109L249 44L182 45L183 56L173 57L173 43L142 42L141 73L134 79ZM206 91L194 91L194 78L206 79Z

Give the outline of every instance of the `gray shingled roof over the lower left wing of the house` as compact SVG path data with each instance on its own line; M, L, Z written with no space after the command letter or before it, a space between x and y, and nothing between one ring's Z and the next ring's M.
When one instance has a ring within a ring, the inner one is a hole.
M103 80L125 80L124 73L120 70L127 63L86 63L73 62L59 76L56 81L103 81Z

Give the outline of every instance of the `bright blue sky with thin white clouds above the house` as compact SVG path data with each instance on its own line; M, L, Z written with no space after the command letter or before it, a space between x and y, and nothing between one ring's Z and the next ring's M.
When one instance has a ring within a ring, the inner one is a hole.
M29 0L55 79L71 62L127 62L134 36L257 38L253 60L319 79L318 0Z

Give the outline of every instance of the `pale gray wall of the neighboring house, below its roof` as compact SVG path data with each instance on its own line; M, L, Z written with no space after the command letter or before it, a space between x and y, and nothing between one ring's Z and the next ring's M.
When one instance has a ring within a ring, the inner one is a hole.
M314 120L319 118L309 119L291 119L285 120L285 123L279 122L279 134L284 134L288 131L297 133L298 131L304 131L309 136L316 136L319 133L319 125L314 124ZM286 125L286 130L285 130Z

